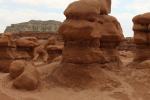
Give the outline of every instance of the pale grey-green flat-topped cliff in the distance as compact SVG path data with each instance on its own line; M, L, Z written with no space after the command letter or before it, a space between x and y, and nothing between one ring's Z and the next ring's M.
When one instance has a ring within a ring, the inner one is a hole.
M61 22L58 21L38 21L31 20L25 23L12 24L5 30L6 32L18 33L18 32L57 32Z

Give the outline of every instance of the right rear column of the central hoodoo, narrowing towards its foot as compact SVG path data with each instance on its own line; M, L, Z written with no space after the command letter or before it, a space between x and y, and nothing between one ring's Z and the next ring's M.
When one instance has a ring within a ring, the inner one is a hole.
M109 15L101 15L100 48L103 50L108 63L114 63L115 66L120 66L121 61L117 51L117 46L124 39L122 28L116 18ZM111 28L108 28L111 27Z

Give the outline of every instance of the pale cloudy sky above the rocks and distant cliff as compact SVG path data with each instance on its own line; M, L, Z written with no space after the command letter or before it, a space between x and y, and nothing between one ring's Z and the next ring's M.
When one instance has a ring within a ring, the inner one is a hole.
M0 33L6 26L29 20L57 20L63 22L63 12L76 0L0 0ZM132 18L150 12L150 0L112 0L112 12L126 37L133 36Z

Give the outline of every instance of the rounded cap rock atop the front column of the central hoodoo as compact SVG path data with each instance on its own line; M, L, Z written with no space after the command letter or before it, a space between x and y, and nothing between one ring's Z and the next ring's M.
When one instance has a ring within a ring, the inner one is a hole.
M69 17L80 17L84 18L89 15L96 15L99 14L100 5L97 3L97 0L81 0L75 1L71 3L67 9L65 10L64 14L67 18Z

